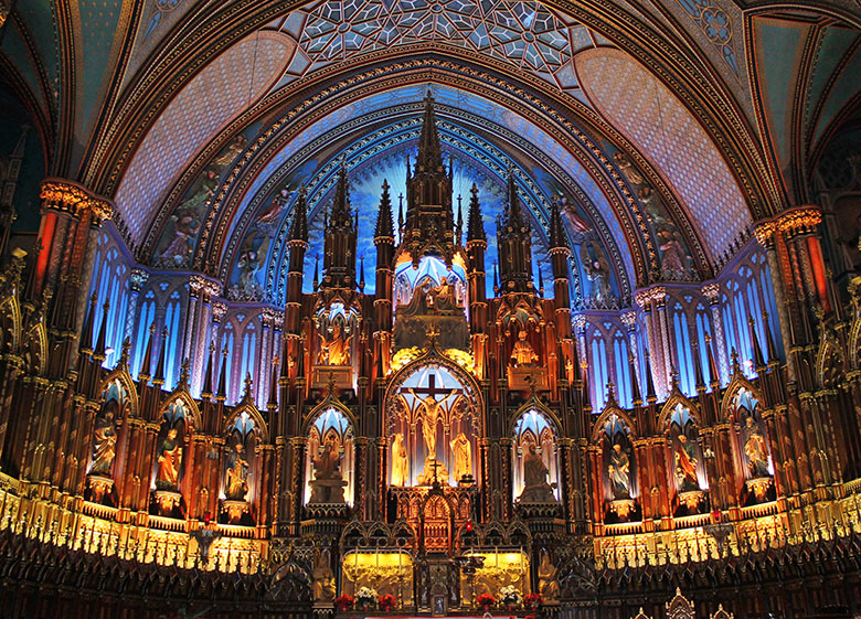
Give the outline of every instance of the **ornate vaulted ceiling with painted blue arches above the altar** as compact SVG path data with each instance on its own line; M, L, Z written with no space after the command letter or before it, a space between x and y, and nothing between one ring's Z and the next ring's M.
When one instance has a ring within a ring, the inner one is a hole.
M395 174L431 89L487 202L509 168L539 228L566 201L624 297L712 277L752 222L816 200L860 26L855 0L19 0L0 74L45 173L113 199L142 263L225 284L261 230L277 262L300 184L322 209L337 161Z

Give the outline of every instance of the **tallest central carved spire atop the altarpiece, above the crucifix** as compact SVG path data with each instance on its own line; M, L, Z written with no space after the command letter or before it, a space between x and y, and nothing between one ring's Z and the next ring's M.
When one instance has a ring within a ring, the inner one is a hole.
M418 157L406 174L406 221L398 252L408 252L414 265L422 256L440 257L451 266L455 255L455 217L451 210L451 166L443 163L443 147L436 127L434 97L424 100Z

